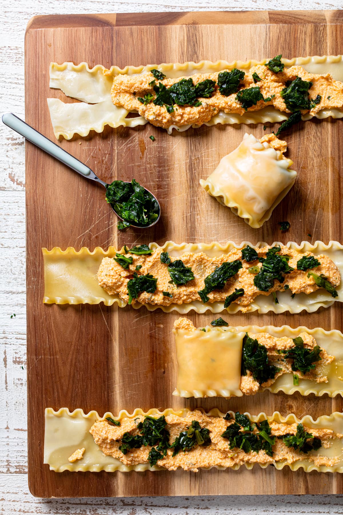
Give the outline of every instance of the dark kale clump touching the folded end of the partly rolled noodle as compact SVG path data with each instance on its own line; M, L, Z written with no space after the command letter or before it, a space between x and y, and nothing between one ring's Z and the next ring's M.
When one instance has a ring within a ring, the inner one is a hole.
M245 334L243 338L241 375L246 375L247 370L252 372L252 377L261 385L269 379L274 379L279 368L269 365L267 349L259 344L257 339L252 339Z

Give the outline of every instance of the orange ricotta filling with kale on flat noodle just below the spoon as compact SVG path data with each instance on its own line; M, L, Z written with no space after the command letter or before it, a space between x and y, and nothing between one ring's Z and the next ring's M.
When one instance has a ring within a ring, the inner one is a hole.
M138 254L140 248L143 250ZM215 258L204 252L185 252L172 258L162 248L150 250L147 245L124 247L124 252L115 258L103 258L97 278L109 295L117 295L129 304L222 301L225 308L236 302L246 312L258 295L284 289L296 295L310 294L321 287L333 297L338 295L335 287L340 283L340 273L328 256L302 254L284 245L247 246Z

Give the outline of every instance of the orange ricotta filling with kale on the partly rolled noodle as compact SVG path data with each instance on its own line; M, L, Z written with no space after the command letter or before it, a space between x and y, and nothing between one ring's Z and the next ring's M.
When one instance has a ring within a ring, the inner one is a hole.
M196 331L188 318L175 320L174 328ZM280 375L286 373L293 373L295 384L299 379L327 383L326 365L332 363L334 359L335 357L330 356L326 350L320 349L315 338L308 333L299 333L293 339L286 336L277 338L268 333L249 332L243 338L242 344L241 370L245 373L241 375L240 390L244 395L255 395L260 388L267 388Z

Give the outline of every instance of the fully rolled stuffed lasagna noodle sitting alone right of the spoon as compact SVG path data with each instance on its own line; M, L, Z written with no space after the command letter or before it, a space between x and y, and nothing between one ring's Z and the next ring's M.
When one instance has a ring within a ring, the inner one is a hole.
M274 139L279 147L268 143ZM261 143L262 141L262 143ZM260 141L245 134L242 143L224 156L213 173L200 184L207 193L254 228L261 227L293 186L297 173L283 157L285 142L264 136Z

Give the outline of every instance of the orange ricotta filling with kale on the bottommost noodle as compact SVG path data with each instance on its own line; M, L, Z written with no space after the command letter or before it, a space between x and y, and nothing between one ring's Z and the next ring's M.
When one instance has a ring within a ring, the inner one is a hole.
M120 419L120 425L97 421L89 431L101 451L124 465L150 463L168 470L178 467L197 472L199 468L232 467L244 463L274 464L310 461L332 466L338 457L318 450L343 438L326 428L262 420L253 423L236 413L225 418L189 411L186 417L167 415Z

